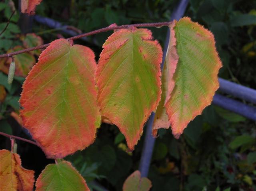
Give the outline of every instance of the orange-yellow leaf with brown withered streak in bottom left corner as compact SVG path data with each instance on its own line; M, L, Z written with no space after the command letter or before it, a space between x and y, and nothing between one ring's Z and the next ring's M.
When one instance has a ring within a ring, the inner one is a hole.
M34 187L34 171L21 166L20 156L8 150L0 150L1 191L31 191Z

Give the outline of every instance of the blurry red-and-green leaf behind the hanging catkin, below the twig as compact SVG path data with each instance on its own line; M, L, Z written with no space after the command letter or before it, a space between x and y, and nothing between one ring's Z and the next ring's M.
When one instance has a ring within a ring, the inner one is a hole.
M24 49L22 46L16 46L13 49L8 50L7 53L19 51L22 49ZM35 57L32 54L27 52L15 55L13 57L16 65L15 75L20 77L26 77L28 75L28 72L32 68L32 66L36 63ZM5 66L9 68L11 62L12 62L12 58L8 58L5 63ZM6 70L2 70L2 71L6 73Z

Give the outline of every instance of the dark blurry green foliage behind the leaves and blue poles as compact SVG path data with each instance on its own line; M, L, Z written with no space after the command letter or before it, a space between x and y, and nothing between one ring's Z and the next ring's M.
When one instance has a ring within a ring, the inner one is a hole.
M36 14L52 18L82 32L106 27L112 23L133 24L170 20L178 0L43 0ZM18 1L14 1L18 9ZM8 0L0 1L0 31L5 27L13 7ZM210 29L224 67L219 76L256 89L256 1L254 0L190 0L185 16L190 16ZM49 29L30 23L16 13L6 32L0 36L0 53L16 45L24 47L21 33L34 32L45 43L58 38L62 28ZM24 26L27 26L24 28ZM167 28L151 29L163 47ZM102 43L111 32L77 40L90 46L98 60ZM68 37L65 34L64 37ZM27 55L37 59L38 54ZM15 77L12 85L2 72L0 60L0 131L29 138L18 118L18 99L24 77ZM228 95L227 95L228 96ZM124 180L138 169L142 136L134 152L127 152L124 136L118 128L102 124L94 144L66 159L85 177L88 186L97 187L95 180L109 190L121 190ZM18 154L25 168L34 169L36 177L47 163L42 151L34 145L18 142ZM256 123L230 111L208 106L196 117L179 140L170 130L160 130L156 139L149 179L152 190L256 190ZM0 149L10 142L0 137Z

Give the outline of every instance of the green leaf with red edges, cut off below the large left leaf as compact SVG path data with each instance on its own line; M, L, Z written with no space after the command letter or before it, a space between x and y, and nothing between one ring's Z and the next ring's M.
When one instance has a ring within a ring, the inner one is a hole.
M36 191L90 191L83 177L68 161L48 164L36 180Z

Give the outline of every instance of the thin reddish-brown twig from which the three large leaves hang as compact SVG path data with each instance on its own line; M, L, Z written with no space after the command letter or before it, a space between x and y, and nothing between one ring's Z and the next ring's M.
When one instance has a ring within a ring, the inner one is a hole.
M76 39L86 37L86 36L90 36L90 35L94 35L94 34L97 34L97 33L107 32L107 31L116 30L116 29L130 28L132 26L133 27L162 27L162 26L169 26L171 23L172 22L142 23L142 24L105 27L105 28L102 28L102 29L94 30L94 31L91 31L91 32L88 32L88 33L84 33L84 34L80 34L80 35L76 35L76 36L67 38L67 40L76 40ZM38 49L43 49L43 48L48 47L49 45L50 45L50 43L40 45L40 46L36 46L36 47L32 47L32 48L23 49L23 50L20 50L20 51L15 51L15 52L8 53L8 54L2 54L2 55L0 55L0 58L11 57L13 55L21 54L21 53L24 53L24 52L30 52L30 51L34 51L34 50L38 50Z

